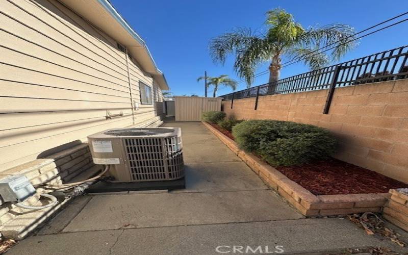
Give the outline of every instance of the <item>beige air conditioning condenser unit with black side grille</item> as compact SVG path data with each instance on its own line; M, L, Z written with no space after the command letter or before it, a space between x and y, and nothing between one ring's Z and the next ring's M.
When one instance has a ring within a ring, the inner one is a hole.
M110 165L115 182L184 177L180 127L111 129L88 136L95 164Z

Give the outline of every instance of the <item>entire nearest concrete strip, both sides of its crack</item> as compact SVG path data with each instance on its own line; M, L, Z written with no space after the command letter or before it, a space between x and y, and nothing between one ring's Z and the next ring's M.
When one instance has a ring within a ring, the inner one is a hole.
M299 219L268 222L210 224L132 228L33 236L23 240L7 254L222 254L217 246L283 246L284 254L340 253L346 248L390 247L406 252L386 240L368 236L360 228L336 218ZM221 251L231 250L220 247ZM228 252L229 254L234 254ZM228 254L226 253L226 254ZM258 252L259 254L259 252Z

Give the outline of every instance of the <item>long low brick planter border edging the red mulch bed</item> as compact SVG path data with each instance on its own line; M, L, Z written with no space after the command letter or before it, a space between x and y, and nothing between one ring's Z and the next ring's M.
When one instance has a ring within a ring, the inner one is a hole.
M316 196L293 182L257 156L239 149L237 143L207 122L202 122L218 139L230 148L249 168L271 188L283 196L304 216L344 215L362 212L381 212L389 193L320 195Z

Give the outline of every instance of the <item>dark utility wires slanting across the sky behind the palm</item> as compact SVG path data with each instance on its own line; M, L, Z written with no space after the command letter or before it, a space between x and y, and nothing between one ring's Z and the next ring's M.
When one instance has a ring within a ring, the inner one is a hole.
M341 39L341 40L339 40L339 41L330 43L330 44L328 44L328 45L326 45L326 46L323 46L323 47L321 47L321 48L318 48L318 49L316 49L316 50L313 50L313 52L310 52L310 53L308 53L308 54L304 54L304 55L299 56L299 57L297 57L297 58L295 58L295 59L292 59L292 60L290 60L290 61L287 61L287 62L283 63L283 66L282 66L281 68L286 67L286 66L289 66L289 65L291 65L291 64L298 63L298 62L304 60L306 56L308 56L308 55L310 55L310 54L313 54L313 53L315 53L315 52L318 52L319 50L321 50L321 49L323 49L323 48L326 48L326 47L328 47L328 46L337 44L337 43L339 43L339 42L341 42L341 41L343 41L343 40L346 40L346 39L348 39L348 38L350 38L350 37L353 37L353 36L355 36L355 35L364 33L364 32L366 32L366 31L368 31L368 30L370 30L370 29L373 29L373 28L375 28L375 27L378 27L378 25L387 23L388 21L391 21L391 20L393 20L393 19L399 18L399 17L404 16L404 15L406 15L406 14L408 14L408 12L402 13L402 14L400 14L400 15L397 15L397 16L395 16L395 17L392 17L392 18L390 18L390 19L387 19L387 20L385 20L385 21L382 21L382 22L380 22L380 23L377 23L377 24L375 24L375 25L372 25L371 27L369 27L369 28L367 28L367 29L364 29L364 30L362 30L362 31L360 31L360 32L354 33L354 34L352 34L352 35L350 35L350 36L348 36L348 37L346 37L346 38L343 38L343 39ZM319 53L317 53L317 54L314 54L313 56L316 56L316 55L321 54L321 53L323 53L323 52L327 52L327 51L330 50L330 49L333 49L333 48L335 48L335 47L337 47L337 46L340 46L340 45L344 45L344 44L346 44L346 43L348 43L348 42L355 41L355 40L361 39L361 38L363 38L363 37L369 36L369 35L371 35L371 34L377 33L377 32L379 32L379 31L381 31L381 30L388 29L388 28L390 28L390 27L393 27L394 25L397 25L397 24L399 24L399 23L405 22L405 21L407 21L407 20L408 20L408 18L407 18L407 19L400 20L400 21L395 22L395 23L392 23L392 24L390 24L390 25L387 25L386 27L377 29L377 30L375 30L375 31L373 31L373 32L370 32L370 33L368 33L368 34L365 34L365 35L363 35L363 36L354 38L353 40L350 40L350 41L347 41L347 42L345 42L345 43L336 45L336 46L334 46L334 47L325 49L325 50L323 50L322 52L319 52ZM290 62L292 62L292 61L294 61L294 60L297 60L297 61L295 61L295 62L293 62L293 63L290 63ZM287 64L287 65L286 65L286 64ZM269 72L269 70L265 70L265 71L262 71L262 72L260 72L260 73L257 73L256 75L254 75L254 78L260 77L260 76L262 76L262 75L264 75L264 74L266 74L266 73L268 73L268 72ZM241 80L241 81L239 81L237 84L240 84L240 83L242 83L242 82L245 82L245 80ZM219 88L218 90L226 89L226 88L228 88L228 87L224 86L224 87L222 87L222 88ZM212 92L212 91L214 91L214 90L211 90L210 92Z

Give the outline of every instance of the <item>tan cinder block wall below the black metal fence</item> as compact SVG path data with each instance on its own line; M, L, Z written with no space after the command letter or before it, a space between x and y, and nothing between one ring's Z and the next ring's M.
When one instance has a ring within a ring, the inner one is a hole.
M276 119L325 127L339 139L335 158L408 183L408 80L337 88L329 114L327 89L223 101L238 119Z

